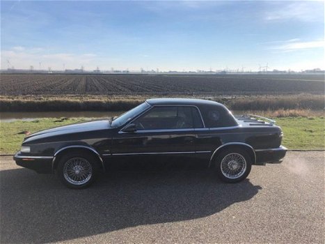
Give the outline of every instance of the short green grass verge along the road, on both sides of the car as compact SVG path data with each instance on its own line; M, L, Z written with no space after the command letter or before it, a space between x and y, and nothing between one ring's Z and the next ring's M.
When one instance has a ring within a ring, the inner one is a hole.
M46 128L88 121L87 119L40 119L36 121L15 121L1 123L0 154L13 154L19 150L24 134L19 132L36 132ZM60 122L55 122L60 121ZM276 118L285 134L283 145L291 149L324 149L324 117L282 117Z

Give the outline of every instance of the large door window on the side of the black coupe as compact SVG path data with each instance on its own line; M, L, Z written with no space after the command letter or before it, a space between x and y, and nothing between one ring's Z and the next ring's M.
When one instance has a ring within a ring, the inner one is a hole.
M202 128L196 107L157 106L133 122L136 130L166 130Z

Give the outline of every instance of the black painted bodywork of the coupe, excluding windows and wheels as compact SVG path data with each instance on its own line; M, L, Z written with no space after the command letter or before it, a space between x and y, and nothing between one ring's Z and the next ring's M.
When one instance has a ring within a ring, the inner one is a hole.
M286 153L281 146L282 131L270 123L252 123L236 119L218 102L195 99L151 99L146 101L148 109L157 106L189 106L200 112L201 128L169 130L138 130L123 132L123 128L134 119L114 128L109 120L90 121L42 130L24 139L22 146L30 146L30 153L17 152L17 165L39 173L51 173L56 169L58 158L71 150L93 153L101 167L112 160L155 158L199 158L211 165L221 150L239 146L251 155L253 165L279 162ZM222 120L218 127L211 128L209 112L218 109Z

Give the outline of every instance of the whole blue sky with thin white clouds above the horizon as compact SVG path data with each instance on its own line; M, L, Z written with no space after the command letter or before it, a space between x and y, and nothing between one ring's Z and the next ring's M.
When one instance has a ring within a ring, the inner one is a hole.
M1 69L325 69L324 1L1 1Z

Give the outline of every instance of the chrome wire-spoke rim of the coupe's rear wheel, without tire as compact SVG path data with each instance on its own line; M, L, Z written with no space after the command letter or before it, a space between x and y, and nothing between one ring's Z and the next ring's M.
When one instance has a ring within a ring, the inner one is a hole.
M246 172L247 163L243 155L239 153L229 153L221 160L221 173L226 178L236 179Z

